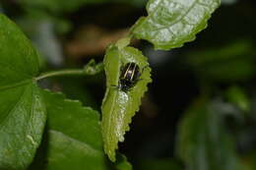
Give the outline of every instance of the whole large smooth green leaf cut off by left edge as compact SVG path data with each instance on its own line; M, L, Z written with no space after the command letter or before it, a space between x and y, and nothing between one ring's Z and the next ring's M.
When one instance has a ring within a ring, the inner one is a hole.
M38 57L22 31L0 14L0 169L25 169L38 147L45 108L33 77Z

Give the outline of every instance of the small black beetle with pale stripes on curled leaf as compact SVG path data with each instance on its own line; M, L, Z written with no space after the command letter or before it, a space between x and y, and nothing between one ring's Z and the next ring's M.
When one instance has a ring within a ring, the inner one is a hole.
M125 64L125 66L121 67L118 88L124 92L129 91L138 81L140 81L140 76L140 67L136 63L131 62Z

